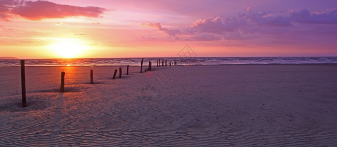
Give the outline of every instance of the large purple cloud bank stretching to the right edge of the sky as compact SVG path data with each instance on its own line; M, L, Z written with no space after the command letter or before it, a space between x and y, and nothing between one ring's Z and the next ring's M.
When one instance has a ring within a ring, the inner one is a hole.
M310 13L307 9L285 12L288 16L274 15L271 11L257 13L248 11L228 18L218 16L199 19L189 25L187 31L181 33L181 36L188 34L185 36L189 38L181 39L269 40L293 43L308 40L323 41L337 37L337 9L321 13Z

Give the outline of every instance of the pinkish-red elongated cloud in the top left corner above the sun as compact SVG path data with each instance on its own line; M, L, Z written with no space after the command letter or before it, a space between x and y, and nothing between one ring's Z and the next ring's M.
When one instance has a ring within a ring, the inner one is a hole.
M101 17L107 11L95 6L73 6L57 4L46 0L0 0L0 19L8 20L14 16L21 16L28 20L42 20L67 17Z

